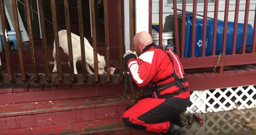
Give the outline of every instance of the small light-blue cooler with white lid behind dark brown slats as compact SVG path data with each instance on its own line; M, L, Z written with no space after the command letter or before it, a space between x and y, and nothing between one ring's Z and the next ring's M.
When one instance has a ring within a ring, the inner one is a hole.
M22 39L22 33L23 31L20 30L20 36ZM18 44L17 44L17 39L16 39L16 32L14 30L10 30L7 32L8 36L9 36L9 45L10 45L10 50L11 51L15 51L18 50ZM0 38L1 38L1 45L2 48L4 50L4 44L3 44L3 33L0 33Z

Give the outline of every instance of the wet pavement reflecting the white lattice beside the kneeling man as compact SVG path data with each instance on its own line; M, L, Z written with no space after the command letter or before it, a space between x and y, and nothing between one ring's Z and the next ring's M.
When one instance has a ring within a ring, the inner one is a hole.
M245 113L240 115L232 111L205 113L202 115L203 123L194 119L191 125L183 128L182 135L256 135L256 130L234 122L244 123L242 120L251 120L256 123L256 108L241 111Z

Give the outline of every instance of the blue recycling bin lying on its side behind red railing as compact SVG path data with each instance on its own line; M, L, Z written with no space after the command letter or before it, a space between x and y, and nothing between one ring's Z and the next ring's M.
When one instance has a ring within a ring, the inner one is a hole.
M216 37L216 53L215 55L220 55L222 51L222 38L223 38L223 21L217 22L217 37ZM237 39L236 39L236 52L242 48L242 36L243 36L243 23L238 23L237 25ZM227 41L226 41L226 55L232 53L232 40L233 40L233 28L234 23L228 22L227 28ZM179 41L181 41L181 14L178 14L178 29L179 29ZM203 19L196 18L196 37L195 37L195 54L193 57L202 56L202 29L203 29ZM174 31L174 16L169 15L166 17L164 32ZM192 35L192 15L186 14L186 29L185 29L185 53L184 57L191 57L191 35ZM174 33L175 36L175 33ZM248 24L247 28L247 40L246 46L247 50L250 50L252 45L253 37L253 27ZM212 42L213 42L213 20L207 20L206 26L206 52L205 56L212 55Z

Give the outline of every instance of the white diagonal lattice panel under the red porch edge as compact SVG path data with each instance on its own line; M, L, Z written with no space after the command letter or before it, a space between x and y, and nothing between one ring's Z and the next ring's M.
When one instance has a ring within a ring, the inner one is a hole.
M193 91L187 112L219 112L234 108L256 108L256 86L238 86L212 90ZM238 106L237 106L238 105Z

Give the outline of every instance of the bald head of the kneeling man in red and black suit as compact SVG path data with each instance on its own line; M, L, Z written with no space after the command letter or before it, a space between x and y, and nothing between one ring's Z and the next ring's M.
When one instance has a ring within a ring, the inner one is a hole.
M133 44L134 44L134 51L139 56L143 53L143 49L151 44L153 42L151 35L146 32L142 31L137 33L133 38Z

